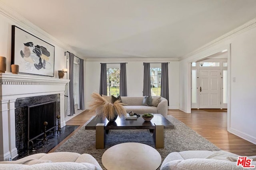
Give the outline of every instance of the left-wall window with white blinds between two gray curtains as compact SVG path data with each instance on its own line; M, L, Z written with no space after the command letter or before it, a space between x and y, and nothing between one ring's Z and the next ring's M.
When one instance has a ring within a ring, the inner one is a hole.
M73 64L73 93L74 93L74 105L78 104L78 78L79 78L79 61L74 57Z

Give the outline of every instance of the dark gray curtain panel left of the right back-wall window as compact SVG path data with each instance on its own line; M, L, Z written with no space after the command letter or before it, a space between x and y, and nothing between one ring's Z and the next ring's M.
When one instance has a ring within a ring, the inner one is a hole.
M143 63L143 65L144 65L143 96L149 96L151 94L150 63Z

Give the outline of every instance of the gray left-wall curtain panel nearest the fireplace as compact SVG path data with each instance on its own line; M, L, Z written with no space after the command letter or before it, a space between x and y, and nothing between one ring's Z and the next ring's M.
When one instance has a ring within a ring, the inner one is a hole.
M73 67L74 67L74 54L73 53L69 53L69 78L70 78L70 82L69 82L69 97L70 97L70 115L68 116L72 116L75 114L75 107L74 107L74 92L73 92L73 78L74 78L74 74L73 74Z

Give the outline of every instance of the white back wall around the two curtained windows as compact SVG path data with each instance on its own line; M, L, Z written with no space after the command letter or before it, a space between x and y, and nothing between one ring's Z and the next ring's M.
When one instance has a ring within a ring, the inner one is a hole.
M128 96L142 96L143 91L143 74L144 66L143 61L136 61L136 59L129 61L116 61L127 62L126 64L126 76L127 76L127 95ZM145 59L145 62L147 59ZM169 72L169 108L178 109L178 62L177 61L158 61L158 62L170 62L168 64ZM105 60L102 61L86 61L86 101L90 102L90 95L92 92L99 92L100 89L100 63L108 63ZM149 62L150 63L150 62ZM88 108L88 103L87 107Z

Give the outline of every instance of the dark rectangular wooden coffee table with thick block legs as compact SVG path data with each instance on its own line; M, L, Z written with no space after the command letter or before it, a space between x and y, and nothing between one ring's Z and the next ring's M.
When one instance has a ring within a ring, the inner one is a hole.
M161 114L154 114L151 121L146 122L142 115L137 119L118 117L116 121L109 122L100 116L94 117L85 129L96 129L96 149L104 149L104 145L111 129L148 129L153 137L156 148L164 148L164 129L173 129L174 125Z

